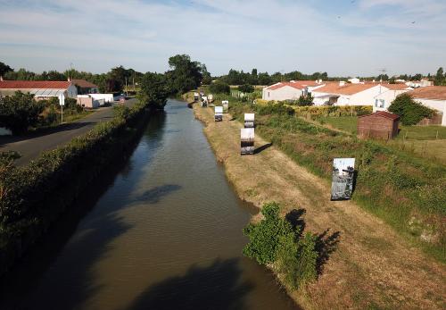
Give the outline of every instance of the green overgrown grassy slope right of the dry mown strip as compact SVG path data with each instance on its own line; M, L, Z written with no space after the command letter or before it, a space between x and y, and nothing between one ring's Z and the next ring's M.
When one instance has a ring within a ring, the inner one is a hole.
M355 157L358 179L353 199L437 259L446 260L444 166L277 113L272 105L244 105L233 98L229 106L238 120L244 113L257 113L256 133L326 180L331 180L333 158Z

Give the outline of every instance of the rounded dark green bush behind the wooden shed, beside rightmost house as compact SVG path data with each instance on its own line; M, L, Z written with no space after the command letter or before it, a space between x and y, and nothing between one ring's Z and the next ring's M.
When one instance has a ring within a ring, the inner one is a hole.
M408 93L397 96L389 106L389 112L400 115L401 123L408 126L434 115L434 110L416 102Z

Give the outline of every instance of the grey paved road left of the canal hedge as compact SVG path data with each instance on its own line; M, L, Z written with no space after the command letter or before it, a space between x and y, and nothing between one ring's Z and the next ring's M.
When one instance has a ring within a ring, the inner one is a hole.
M136 99L129 99L126 105L133 105L135 102ZM81 120L58 126L54 130L31 133L22 137L0 137L0 152L8 150L19 152L21 158L17 159L15 164L24 165L37 158L41 152L70 142L72 138L91 130L98 122L110 121L112 117L112 107L103 107Z

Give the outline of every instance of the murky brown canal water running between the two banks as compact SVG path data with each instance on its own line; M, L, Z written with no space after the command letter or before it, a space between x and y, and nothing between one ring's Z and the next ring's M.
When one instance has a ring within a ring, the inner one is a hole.
M2 279L1 309L292 309L242 256L256 211L235 196L182 101ZM117 173L118 172L118 173Z

